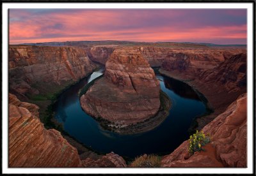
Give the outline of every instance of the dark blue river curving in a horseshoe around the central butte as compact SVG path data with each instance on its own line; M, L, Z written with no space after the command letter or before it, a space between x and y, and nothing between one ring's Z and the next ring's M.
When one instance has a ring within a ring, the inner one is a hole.
M192 87L156 73L161 90L172 101L168 117L159 126L144 133L124 135L104 130L82 110L78 96L84 85L102 73L103 70L95 71L73 85L58 97L54 105L54 117L63 124L64 131L98 152L115 152L128 158L141 154L169 154L189 138L188 129L193 119L206 112L207 106Z

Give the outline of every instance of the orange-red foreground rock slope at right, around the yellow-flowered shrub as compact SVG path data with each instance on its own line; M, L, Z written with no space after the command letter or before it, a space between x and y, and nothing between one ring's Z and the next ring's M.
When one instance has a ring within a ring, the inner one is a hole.
M188 154L189 141L164 156L163 167L246 167L247 95L243 94L202 131L211 136L205 151Z

